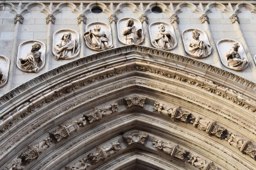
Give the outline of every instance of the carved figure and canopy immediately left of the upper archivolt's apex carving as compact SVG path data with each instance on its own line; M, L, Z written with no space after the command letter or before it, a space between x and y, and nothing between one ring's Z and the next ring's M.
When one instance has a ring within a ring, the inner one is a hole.
M86 113L84 116L91 124L92 122L99 121L102 117L111 115L112 113L117 111L118 111L118 104L115 102L115 103L106 105L103 108L94 109Z

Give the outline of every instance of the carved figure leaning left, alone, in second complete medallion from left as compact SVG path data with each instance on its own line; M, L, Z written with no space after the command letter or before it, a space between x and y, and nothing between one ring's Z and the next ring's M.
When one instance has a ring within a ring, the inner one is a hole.
M55 59L59 58L65 59L74 56L79 51L80 44L78 40L72 36L70 32L65 33L61 40L54 46L55 49Z

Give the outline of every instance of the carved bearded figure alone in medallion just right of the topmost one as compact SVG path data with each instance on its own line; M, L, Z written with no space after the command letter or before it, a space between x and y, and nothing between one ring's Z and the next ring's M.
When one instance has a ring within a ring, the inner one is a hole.
M158 26L159 31L155 39L153 39L153 44L159 49L171 49L174 45L174 39L170 31L166 31L164 24Z

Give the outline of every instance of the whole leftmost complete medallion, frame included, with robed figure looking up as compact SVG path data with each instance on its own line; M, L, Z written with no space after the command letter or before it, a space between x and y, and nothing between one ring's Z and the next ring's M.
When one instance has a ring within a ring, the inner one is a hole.
M30 45L32 48L27 53ZM25 53L27 53L25 55ZM45 65L45 45L39 41L27 41L20 44L18 49L17 66L25 72L38 73Z

